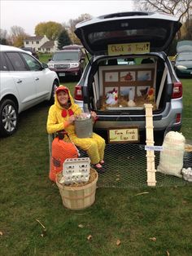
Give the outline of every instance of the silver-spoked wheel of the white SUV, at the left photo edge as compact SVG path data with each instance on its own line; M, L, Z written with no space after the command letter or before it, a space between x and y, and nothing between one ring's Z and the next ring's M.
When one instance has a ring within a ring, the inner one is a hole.
M15 102L4 99L0 105L0 135L12 135L17 129L18 110Z

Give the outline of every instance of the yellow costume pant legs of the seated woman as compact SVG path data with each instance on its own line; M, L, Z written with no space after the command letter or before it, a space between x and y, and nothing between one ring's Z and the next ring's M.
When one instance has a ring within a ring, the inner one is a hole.
M105 140L101 136L93 134L91 138L81 139L73 135L71 139L77 147L80 147L87 152L93 165L103 160Z

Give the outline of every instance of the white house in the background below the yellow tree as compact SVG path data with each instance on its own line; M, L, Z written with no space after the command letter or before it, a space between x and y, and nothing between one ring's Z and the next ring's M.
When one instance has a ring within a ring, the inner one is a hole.
M57 51L57 41L50 41L46 35L34 36L24 39L24 47L33 48L33 51L52 53Z

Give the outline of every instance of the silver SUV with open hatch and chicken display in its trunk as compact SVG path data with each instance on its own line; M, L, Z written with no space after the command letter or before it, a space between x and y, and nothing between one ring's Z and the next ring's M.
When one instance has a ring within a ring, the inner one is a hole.
M94 130L107 142L146 142L144 104L153 106L155 139L181 129L182 84L166 54L180 28L176 17L146 11L76 24L76 36L92 57L75 87L75 102L98 114Z

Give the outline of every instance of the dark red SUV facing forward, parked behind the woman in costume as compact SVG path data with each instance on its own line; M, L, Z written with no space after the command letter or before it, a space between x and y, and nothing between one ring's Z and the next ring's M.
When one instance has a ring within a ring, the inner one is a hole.
M64 46L63 50L55 51L48 62L50 70L59 77L77 77L80 79L85 68L85 53L80 46Z

